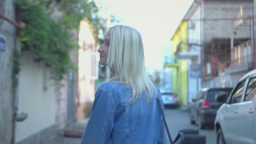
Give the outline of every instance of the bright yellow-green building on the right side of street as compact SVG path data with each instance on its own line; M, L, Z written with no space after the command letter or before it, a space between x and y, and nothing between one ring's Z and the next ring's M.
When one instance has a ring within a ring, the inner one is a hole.
M173 91L177 93L180 105L187 105L188 99L188 60L177 59L180 52L187 52L187 21L182 21L171 38L173 42L174 63L167 63L172 67Z

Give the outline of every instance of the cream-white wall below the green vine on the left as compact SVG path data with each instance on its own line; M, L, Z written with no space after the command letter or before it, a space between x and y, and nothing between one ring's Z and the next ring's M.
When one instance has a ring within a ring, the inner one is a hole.
M16 143L55 125L55 86L49 80L49 67L34 62L30 53L20 59L18 113L27 112L28 118L16 122ZM53 133L54 134L54 133ZM42 137L42 136L41 136ZM41 140L36 140L36 144Z

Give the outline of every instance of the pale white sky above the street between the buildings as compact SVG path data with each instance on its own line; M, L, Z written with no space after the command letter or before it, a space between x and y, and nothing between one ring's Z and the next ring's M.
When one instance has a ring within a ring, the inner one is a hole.
M161 69L161 47L171 46L177 29L193 0L97 0L108 12L121 17L122 25L137 29L144 43L145 66Z

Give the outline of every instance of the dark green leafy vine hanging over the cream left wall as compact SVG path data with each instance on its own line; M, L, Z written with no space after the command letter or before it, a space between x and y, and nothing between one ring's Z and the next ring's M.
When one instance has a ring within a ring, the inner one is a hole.
M20 31L21 51L31 52L36 62L43 61L51 67L54 80L63 79L72 65L69 50L78 47L68 30L63 29L37 3L16 0L16 6L21 8L21 20L26 24Z

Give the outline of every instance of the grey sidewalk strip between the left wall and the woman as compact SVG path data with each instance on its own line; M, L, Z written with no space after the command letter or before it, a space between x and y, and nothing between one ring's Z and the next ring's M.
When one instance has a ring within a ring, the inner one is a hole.
M85 118L83 121L79 121L68 125L66 128L60 130L54 137L44 141L42 144L80 144L82 137L65 137L65 130L75 130L83 132L89 121L89 118Z

